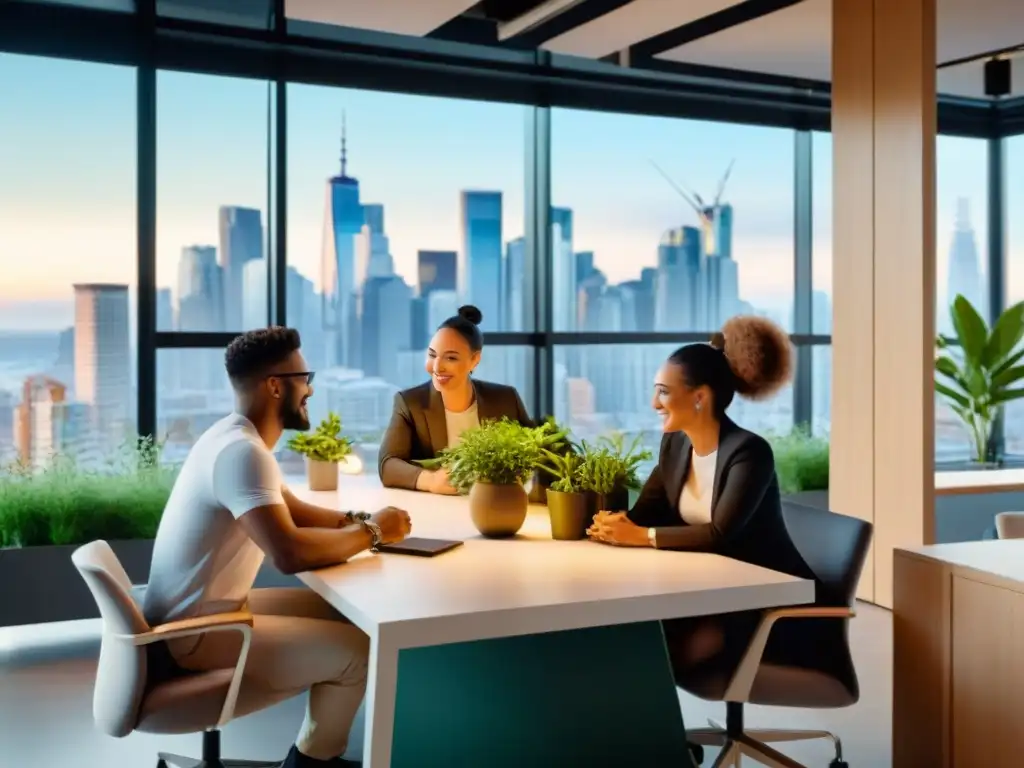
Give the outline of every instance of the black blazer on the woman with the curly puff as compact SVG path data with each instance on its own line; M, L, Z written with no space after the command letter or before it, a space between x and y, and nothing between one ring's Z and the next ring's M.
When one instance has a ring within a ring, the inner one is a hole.
M702 525L687 524L679 514L691 449L683 432L665 434L657 466L629 518L656 529L658 549L715 552L793 575L807 570L785 529L775 457L768 441L722 419L712 521Z

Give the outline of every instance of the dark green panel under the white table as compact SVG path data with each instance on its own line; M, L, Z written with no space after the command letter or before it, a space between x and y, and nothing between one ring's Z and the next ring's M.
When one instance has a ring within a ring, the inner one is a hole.
M391 768L689 768L660 624L402 650Z

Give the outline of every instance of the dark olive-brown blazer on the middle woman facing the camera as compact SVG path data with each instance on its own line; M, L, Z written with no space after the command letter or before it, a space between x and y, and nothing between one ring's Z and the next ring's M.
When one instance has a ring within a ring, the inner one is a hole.
M473 381L473 389L480 421L507 416L524 426L534 426L515 387ZM423 467L412 462L433 459L446 446L444 403L434 385L428 381L396 393L377 463L381 482L387 487L415 490Z

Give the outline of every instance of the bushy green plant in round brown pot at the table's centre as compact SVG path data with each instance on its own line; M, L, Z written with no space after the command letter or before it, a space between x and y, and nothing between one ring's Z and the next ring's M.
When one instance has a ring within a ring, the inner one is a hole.
M515 536L525 522L528 501L523 482L541 461L539 429L508 418L484 421L441 452L449 482L469 494L470 516L483 536Z

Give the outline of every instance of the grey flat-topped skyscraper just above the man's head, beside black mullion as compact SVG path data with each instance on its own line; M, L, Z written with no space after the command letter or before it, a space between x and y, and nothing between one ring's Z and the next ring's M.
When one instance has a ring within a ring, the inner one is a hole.
M242 331L248 328L243 324L244 302L253 308L261 308L264 316L260 317L255 328L266 325L266 298L253 296L243 291L246 264L263 260L263 222L262 214L254 208L239 208L237 206L221 206L220 225L220 266L223 274L224 316L223 327L218 331ZM266 282L264 281L264 286ZM243 298L245 297L245 298Z

